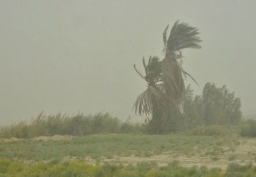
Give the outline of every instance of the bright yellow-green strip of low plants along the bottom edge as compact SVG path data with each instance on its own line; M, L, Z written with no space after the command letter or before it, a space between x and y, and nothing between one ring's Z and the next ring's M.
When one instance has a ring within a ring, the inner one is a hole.
M84 162L65 162L65 163L43 163L39 162L34 165L26 165L24 163L10 162L9 160L0 160L0 176L11 177L135 177L135 176L255 176L256 168L247 165L239 166L236 164L230 164L223 172L220 169L207 169L201 168L184 168L178 166L176 163L169 164L165 167L158 167L155 164L141 163L137 166L113 166L105 164L104 166L92 166Z

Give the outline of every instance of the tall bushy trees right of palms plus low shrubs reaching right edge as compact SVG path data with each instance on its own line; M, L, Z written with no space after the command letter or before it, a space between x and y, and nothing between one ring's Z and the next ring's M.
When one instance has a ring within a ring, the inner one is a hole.
M174 116L179 131L192 130L193 135L223 135L227 131L243 137L256 137L256 120L244 120L241 100L226 85L206 83L201 96L186 88L183 113Z

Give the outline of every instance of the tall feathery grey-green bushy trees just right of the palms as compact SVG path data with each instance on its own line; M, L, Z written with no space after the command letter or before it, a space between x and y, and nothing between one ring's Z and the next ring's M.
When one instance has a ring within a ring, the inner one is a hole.
M174 116L172 126L178 130L197 126L238 125L242 118L241 100L229 92L226 86L216 87L206 83L201 96L193 96L193 90L186 88L183 112ZM175 125L176 123L176 125Z

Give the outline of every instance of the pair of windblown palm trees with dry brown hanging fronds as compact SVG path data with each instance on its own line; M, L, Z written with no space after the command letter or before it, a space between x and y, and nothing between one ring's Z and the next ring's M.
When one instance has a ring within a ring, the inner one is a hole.
M188 75L193 79L182 67L182 50L201 48L197 28L183 22L179 23L177 20L170 30L168 39L167 30L168 26L163 33L164 59L160 61L157 57L150 57L148 65L143 59L145 76L141 75L134 65L135 71L148 83L147 90L138 96L133 106L135 113L140 116L146 114L151 116L152 120L157 120L157 127L160 129L158 133L167 133L170 116L173 116L174 112L179 112L177 106L185 96L184 77Z

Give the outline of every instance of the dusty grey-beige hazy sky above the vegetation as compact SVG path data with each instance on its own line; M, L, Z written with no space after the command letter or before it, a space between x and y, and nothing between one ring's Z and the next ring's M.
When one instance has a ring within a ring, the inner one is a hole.
M227 85L256 112L256 1L0 1L0 125L46 114L125 119L146 83L133 70L162 53L179 19L199 28L185 69L201 87ZM141 71L143 71L141 69Z

